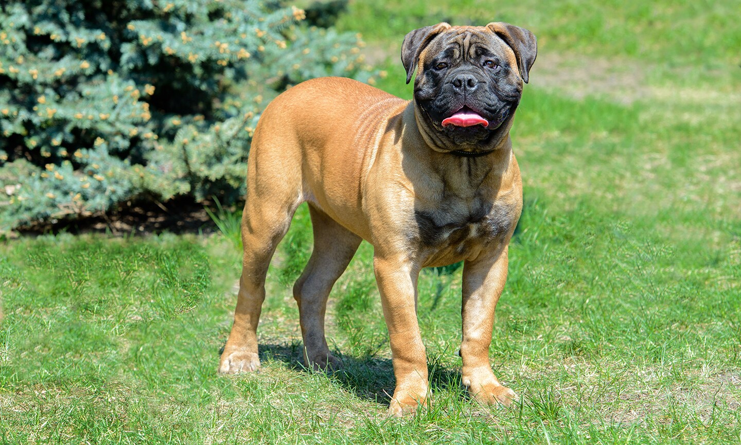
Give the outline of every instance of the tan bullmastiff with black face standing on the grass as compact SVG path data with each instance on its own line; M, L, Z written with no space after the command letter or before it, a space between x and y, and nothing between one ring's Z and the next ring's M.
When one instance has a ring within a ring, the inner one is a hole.
M407 83L417 70L412 101L348 78L305 81L275 98L252 141L242 278L219 372L259 367L268 264L296 207L308 202L314 247L293 286L308 367L340 365L325 338L327 298L365 240L391 341L390 414L415 412L430 395L419 271L458 261L462 383L477 401L511 404L516 395L491 371L489 346L522 210L509 130L535 57L535 36L521 27L440 23L402 44Z

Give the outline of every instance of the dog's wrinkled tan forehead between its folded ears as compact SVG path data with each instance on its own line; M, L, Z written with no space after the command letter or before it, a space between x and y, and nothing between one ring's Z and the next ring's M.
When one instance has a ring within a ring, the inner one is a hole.
M492 55L508 61L510 66L517 66L512 48L487 27L452 27L436 36L425 49L425 53L432 57L442 53L454 60Z

